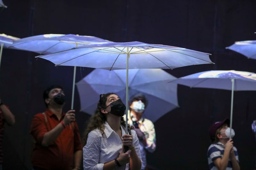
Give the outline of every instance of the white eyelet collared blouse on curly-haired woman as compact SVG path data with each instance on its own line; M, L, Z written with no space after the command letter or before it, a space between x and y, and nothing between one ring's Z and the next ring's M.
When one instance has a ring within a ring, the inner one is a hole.
M88 134L86 145L83 148L83 167L84 170L102 170L104 163L117 158L118 153L123 147L122 140L116 132L110 128L108 122L104 123L104 134L99 129L94 129ZM125 127L121 125L122 136L125 135ZM135 151L141 160L139 139L134 130L131 130L132 142ZM142 160L141 160L142 162ZM129 169L129 163L117 167L116 170Z

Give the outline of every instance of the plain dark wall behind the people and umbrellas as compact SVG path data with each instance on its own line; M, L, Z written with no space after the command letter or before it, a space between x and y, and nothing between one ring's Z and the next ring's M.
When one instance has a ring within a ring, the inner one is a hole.
M0 33L19 38L61 33L91 35L116 42L142 41L211 53L215 64L166 70L182 77L206 70L256 72L256 60L225 49L235 41L256 39L254 0L4 0ZM73 67L55 67L34 57L37 53L4 49L0 67L1 99L16 116L16 124L4 131L4 169L31 169L29 135L33 115L44 111L42 92L58 83L64 87L70 109ZM77 68L76 82L92 68ZM234 93L234 144L241 169L255 169L256 92ZM155 122L157 148L148 153L156 169L205 170L210 145L208 128L230 116L231 92L178 85L179 108ZM74 108L81 133L89 115Z

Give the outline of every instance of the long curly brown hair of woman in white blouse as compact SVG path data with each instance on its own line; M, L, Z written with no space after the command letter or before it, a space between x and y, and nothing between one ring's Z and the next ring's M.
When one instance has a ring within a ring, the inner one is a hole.
M87 142L87 137L88 134L94 130L94 129L100 129L101 134L104 134L104 123L106 122L107 118L106 118L106 114L101 113L101 109L106 108L106 101L109 95L111 94L115 94L115 93L107 93L107 94L101 94L100 95L100 100L97 104L97 108L94 112L94 114L90 117L87 127L84 130L84 134L83 134L83 144L86 145ZM125 127L125 121L124 121L124 117L121 117L121 125L123 125ZM130 128L129 124L128 124L128 129L132 129Z

